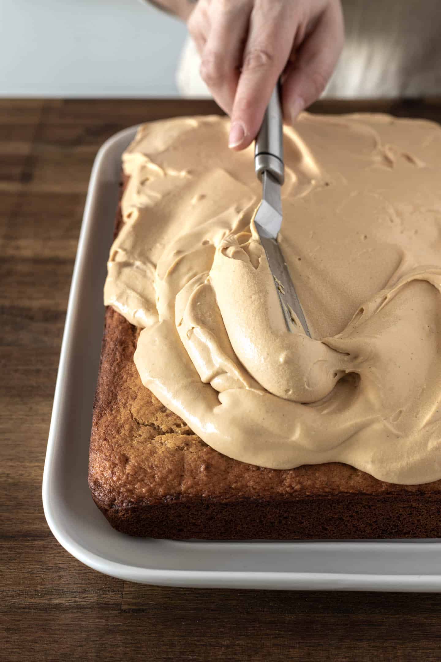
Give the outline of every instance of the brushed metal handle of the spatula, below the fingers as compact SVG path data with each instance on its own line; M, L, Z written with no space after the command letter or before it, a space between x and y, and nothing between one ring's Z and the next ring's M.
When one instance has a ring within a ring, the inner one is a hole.
M255 168L259 179L267 170L280 183L284 183L283 118L280 106L280 81L274 88L266 108L261 129L256 138Z

